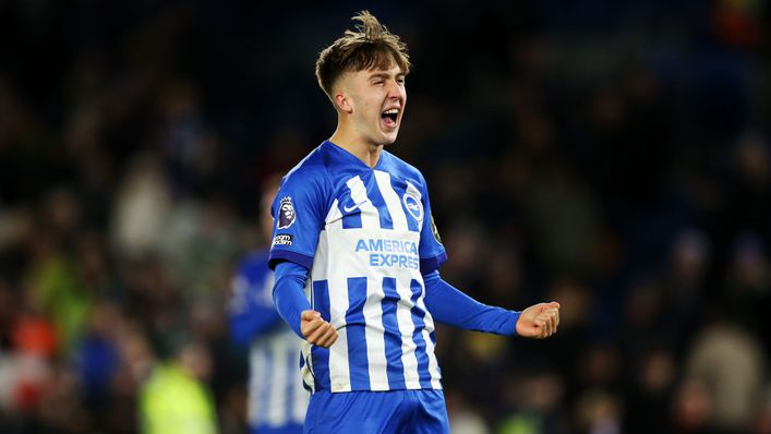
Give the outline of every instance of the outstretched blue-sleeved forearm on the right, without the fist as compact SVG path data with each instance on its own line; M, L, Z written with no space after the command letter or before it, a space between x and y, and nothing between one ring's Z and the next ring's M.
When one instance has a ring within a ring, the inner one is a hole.
M516 333L519 312L478 302L442 280L437 270L424 275L423 280L425 306L435 321L454 327L496 335Z

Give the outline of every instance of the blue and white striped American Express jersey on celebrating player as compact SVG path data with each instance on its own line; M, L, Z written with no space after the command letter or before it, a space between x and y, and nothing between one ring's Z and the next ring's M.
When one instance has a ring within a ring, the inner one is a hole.
M327 141L284 178L273 216L272 265L306 267L305 296L338 330L329 349L303 343L306 386L442 388L421 272L447 255L420 171L386 150L373 169Z

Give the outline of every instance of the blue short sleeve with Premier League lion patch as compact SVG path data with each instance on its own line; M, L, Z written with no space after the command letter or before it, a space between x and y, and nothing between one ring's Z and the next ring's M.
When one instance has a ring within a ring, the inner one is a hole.
M270 269L279 261L290 261L311 269L324 229L326 203L324 185L315 178L292 172L285 178L270 207L273 215L273 242Z

